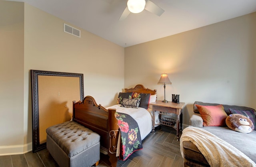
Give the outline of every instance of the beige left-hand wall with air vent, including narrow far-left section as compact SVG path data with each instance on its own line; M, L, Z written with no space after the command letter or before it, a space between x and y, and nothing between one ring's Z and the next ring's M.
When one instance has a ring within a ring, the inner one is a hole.
M30 69L83 73L84 96L103 106L115 104L124 88L123 47L78 27L81 38L64 33L66 22L26 3L0 3L1 16L19 18L18 24L0 21L1 51L6 53L0 55L0 124L6 127L0 132L0 155L32 150Z

